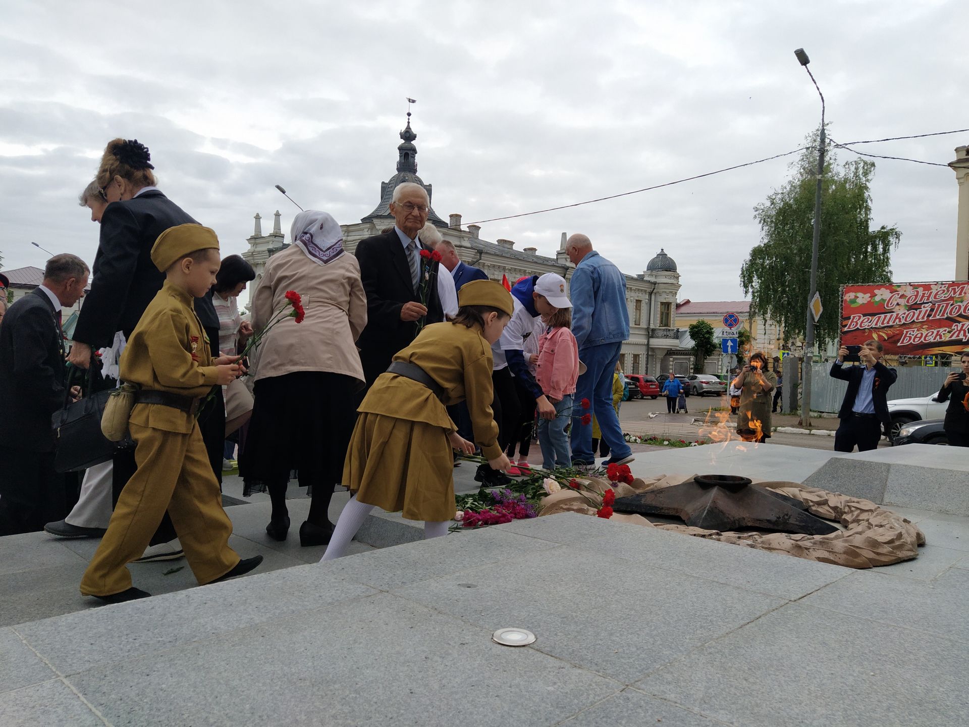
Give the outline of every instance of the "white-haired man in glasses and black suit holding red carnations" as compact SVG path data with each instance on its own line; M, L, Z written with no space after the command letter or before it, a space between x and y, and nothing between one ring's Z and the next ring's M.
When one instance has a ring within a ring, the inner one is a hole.
M419 319L423 318L425 324L444 320L434 280L440 263L430 264L426 305L419 293L418 278L424 265L421 251L426 246L418 233L427 221L429 206L420 184L398 184L391 201L393 229L361 239L357 245L367 300L367 324L357 345L367 388L391 365L393 355L411 344Z

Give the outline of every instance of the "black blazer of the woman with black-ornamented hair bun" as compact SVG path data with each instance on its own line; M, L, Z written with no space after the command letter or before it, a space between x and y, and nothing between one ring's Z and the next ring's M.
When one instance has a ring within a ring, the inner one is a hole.
M165 273L151 262L151 246L170 227L195 222L158 190L108 205L101 218L91 292L81 305L74 339L98 349L109 346L115 332L130 336L165 282Z

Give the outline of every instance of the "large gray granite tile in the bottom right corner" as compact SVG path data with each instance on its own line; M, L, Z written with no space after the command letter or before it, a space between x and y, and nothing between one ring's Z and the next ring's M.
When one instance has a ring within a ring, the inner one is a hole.
M637 686L750 727L964 724L965 645L789 604Z

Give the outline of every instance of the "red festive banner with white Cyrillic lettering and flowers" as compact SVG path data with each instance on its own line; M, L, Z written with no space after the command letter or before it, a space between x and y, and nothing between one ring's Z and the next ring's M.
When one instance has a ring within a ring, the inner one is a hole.
M841 345L872 338L886 354L930 356L969 348L969 283L846 285Z

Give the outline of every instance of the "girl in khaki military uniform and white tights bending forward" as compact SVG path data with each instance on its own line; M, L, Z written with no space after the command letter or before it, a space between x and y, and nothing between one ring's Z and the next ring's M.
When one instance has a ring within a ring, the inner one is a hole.
M458 293L449 323L424 328L393 357L359 407L343 468L353 496L340 513L323 560L346 552L374 507L424 522L424 538L448 532L454 517L452 449L475 446L457 434L446 406L466 400L475 440L493 469L507 470L491 412L491 344L513 310L500 283L475 280Z

